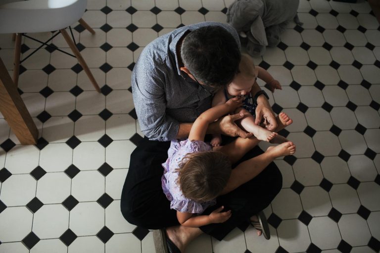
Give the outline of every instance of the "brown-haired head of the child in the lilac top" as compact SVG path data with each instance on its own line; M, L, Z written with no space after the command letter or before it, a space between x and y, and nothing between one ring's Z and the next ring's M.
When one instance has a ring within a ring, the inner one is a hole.
M202 203L215 199L230 175L230 160L222 152L191 153L180 163L178 184L186 198Z

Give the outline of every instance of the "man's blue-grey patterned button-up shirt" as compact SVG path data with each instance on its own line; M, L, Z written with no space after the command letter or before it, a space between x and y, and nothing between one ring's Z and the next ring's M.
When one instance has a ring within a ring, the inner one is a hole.
M211 107L215 89L197 84L182 72L176 54L177 43L185 32L210 25L229 31L240 48L234 28L222 23L203 22L178 28L150 42L142 50L131 82L139 124L150 140L175 139L180 123L194 122Z

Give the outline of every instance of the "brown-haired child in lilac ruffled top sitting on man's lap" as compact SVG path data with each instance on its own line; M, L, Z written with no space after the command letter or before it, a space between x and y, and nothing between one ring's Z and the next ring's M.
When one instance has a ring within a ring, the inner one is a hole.
M269 147L263 154L231 169L231 164L257 144L257 139L238 137L223 147L212 147L204 142L209 124L242 105L242 98L234 97L203 112L193 123L187 140L172 140L168 159L162 164L162 188L177 210L178 221L184 226L199 227L221 223L231 217L230 211L219 207L209 215L199 215L216 204L216 197L226 194L259 174L270 162L280 156L294 154L295 146L288 141ZM282 127L286 121L280 122ZM244 174L244 176L241 176Z

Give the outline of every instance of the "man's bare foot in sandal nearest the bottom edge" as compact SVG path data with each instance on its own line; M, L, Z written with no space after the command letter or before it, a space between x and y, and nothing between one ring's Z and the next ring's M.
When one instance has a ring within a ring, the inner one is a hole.
M166 236L181 252L185 252L188 244L202 233L202 230L197 227L185 227L180 225L166 228Z

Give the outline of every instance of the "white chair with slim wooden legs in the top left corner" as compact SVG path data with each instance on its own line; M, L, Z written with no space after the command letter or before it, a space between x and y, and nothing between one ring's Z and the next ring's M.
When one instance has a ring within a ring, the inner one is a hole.
M82 19L86 6L87 0L0 0L0 34L16 34L13 70L13 81L16 85L20 66L21 35L59 31L95 89L100 92L93 74L65 30L79 20L82 26L92 34L95 33ZM46 44L46 42L43 43Z

